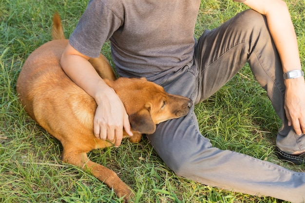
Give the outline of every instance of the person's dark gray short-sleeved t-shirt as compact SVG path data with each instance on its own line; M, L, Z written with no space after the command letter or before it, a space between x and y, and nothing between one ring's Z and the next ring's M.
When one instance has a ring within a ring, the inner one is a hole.
M154 81L191 61L199 6L200 0L90 0L70 44L97 57L110 39L120 76Z

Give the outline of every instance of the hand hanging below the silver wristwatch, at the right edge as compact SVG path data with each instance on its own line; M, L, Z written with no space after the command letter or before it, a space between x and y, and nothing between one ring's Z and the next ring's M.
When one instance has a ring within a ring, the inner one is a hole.
M304 78L285 80L285 111L288 125L298 135L305 134L305 83Z

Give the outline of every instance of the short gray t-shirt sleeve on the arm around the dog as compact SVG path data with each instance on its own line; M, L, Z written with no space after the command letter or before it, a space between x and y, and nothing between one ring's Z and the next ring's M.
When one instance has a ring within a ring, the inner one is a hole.
M101 48L122 24L123 18L115 15L111 5L91 0L69 38L73 48L83 55L98 57ZM124 13L121 11L120 13Z

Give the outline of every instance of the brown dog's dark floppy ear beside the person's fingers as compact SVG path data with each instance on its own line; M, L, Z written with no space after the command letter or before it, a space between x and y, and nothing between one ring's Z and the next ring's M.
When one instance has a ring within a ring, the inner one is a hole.
M132 130L136 132L152 134L156 130L156 126L152 121L149 104L144 109L131 114L129 116L129 122Z

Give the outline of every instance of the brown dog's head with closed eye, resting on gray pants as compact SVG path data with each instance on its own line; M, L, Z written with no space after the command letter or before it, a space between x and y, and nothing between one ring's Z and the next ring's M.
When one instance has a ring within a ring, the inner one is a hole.
M134 132L152 134L156 124L185 116L192 106L191 99L169 94L145 78L105 81L123 102Z

